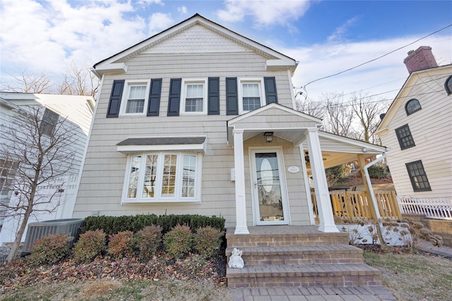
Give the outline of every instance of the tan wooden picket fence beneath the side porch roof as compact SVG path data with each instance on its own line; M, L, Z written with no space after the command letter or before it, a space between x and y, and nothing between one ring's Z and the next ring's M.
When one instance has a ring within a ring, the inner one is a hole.
M377 191L374 192L374 194L382 218L402 219L397 203L396 192ZM314 216L317 219L319 211L317 209L314 192L311 192L311 198L314 207ZM357 217L372 217L370 207L371 199L367 197L366 192L364 191L331 191L330 199L334 216L348 217L352 221Z

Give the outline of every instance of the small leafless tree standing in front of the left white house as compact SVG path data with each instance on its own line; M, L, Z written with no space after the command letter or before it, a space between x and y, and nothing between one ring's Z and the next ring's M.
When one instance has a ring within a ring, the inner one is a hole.
M66 118L44 108L21 112L6 129L0 149L18 167L11 183L11 201L0 206L7 217L19 221L7 262L14 259L30 216L57 209L64 183L53 189L48 187L51 181L59 182L73 166L71 145L76 142L75 130Z

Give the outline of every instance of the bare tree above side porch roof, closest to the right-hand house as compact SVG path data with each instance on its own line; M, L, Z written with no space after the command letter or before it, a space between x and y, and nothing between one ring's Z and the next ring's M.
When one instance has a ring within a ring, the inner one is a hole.
M380 114L387 109L387 102L374 100L371 97L357 93L353 94L350 100L353 112L359 123L357 139L380 144L379 137L374 134L380 122Z

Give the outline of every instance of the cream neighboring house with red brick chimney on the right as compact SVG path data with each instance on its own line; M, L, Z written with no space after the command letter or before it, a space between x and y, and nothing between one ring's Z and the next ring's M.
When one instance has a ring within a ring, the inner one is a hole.
M377 130L398 197L452 202L452 65L408 52L410 75Z

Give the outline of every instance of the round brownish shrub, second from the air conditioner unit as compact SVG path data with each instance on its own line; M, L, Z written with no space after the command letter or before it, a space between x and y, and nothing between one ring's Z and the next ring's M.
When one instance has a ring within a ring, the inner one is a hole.
M100 256L105 250L105 233L102 230L86 231L80 235L73 247L73 257L77 262L86 262Z

